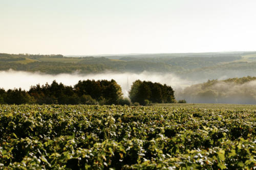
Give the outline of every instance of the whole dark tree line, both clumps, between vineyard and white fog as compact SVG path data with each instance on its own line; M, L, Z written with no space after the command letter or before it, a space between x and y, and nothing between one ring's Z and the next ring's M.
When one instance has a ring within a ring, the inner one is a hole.
M174 90L166 84L137 80L129 97L123 98L120 85L115 80L83 80L74 86L53 81L52 84L31 86L28 91L0 89L0 104L87 104L87 105L140 105L150 103L174 103Z

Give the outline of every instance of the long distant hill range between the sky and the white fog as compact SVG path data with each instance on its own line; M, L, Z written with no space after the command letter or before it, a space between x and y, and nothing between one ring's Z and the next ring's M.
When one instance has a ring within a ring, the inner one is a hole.
M256 52L127 54L104 56L0 54L0 70L22 70L61 74L114 72L158 72L183 79L206 81L256 76Z

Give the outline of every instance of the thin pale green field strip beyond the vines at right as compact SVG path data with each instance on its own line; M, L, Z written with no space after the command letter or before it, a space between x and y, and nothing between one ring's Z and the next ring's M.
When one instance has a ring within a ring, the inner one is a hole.
M154 104L153 106L162 106L162 107L179 107L179 108L200 108L200 109L250 109L256 110L256 105L236 105L236 104L203 104L203 103L170 103L170 104Z

